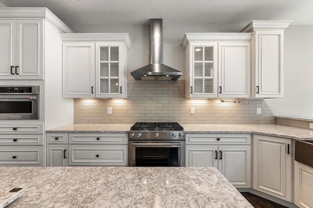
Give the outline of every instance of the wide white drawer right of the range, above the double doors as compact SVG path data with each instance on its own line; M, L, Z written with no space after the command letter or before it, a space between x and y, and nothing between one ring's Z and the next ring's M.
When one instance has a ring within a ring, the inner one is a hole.
M186 144L249 145L250 134L186 134Z

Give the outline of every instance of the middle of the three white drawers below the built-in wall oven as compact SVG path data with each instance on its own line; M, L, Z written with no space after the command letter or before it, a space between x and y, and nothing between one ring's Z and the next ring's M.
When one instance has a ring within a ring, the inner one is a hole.
M44 145L44 134L1 134L0 145Z

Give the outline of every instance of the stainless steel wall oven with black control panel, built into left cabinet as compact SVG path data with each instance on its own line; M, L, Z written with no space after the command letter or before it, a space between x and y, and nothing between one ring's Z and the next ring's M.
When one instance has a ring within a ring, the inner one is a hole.
M0 86L0 120L39 119L39 86Z

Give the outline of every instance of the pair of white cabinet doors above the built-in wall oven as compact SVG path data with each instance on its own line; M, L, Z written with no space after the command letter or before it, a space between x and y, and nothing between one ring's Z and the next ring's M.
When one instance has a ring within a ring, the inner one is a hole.
M44 20L0 19L0 79L44 79Z

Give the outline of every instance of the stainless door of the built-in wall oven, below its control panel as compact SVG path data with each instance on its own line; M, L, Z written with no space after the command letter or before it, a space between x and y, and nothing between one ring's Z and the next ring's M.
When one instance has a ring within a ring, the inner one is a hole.
M39 119L39 95L0 95L0 120Z

